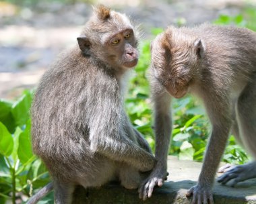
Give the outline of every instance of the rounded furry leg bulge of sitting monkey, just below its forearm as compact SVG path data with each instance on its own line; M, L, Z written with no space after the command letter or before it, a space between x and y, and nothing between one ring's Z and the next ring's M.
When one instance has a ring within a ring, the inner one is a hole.
M125 189L137 189L142 182L139 170L127 164L122 164L119 169L119 180Z

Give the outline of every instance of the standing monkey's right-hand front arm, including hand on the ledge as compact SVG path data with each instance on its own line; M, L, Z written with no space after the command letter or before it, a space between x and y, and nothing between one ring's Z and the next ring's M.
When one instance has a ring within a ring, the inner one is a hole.
M198 183L187 193L188 197L193 194L193 204L207 203L208 199L210 204L214 203L212 186L232 124L228 99L220 99L215 95L215 99L211 97L207 100L209 101L205 102L205 107L212 122L212 134L207 144ZM210 102L210 100L212 101Z

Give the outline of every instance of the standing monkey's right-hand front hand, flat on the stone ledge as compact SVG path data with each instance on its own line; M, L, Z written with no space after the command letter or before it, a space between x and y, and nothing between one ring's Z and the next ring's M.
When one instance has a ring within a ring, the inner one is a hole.
M186 194L187 197L191 197L191 195L193 195L191 204L214 204L214 198L212 196L212 187L210 186L197 184L191 189L189 189L189 191Z

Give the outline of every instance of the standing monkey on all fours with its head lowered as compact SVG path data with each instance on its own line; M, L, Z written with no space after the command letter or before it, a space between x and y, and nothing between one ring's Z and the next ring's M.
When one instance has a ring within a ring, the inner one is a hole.
M162 186L172 132L172 97L187 93L203 101L212 123L192 203L214 203L212 187L228 135L234 134L254 161L219 178L234 184L256 177L256 34L246 28L210 25L168 27L151 44L150 84L154 103L157 164L139 187L139 197ZM224 170L222 170L224 171Z

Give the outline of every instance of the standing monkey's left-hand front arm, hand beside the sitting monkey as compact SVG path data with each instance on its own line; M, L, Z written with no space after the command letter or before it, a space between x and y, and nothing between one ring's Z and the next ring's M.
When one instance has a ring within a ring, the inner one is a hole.
M156 87L157 90L154 90ZM167 174L167 156L170 144L170 134L172 119L170 113L171 97L164 89L159 90L159 86L152 87L154 101L154 130L156 134L156 167L150 176L139 188L139 198L143 200L152 196L156 185L161 187Z

